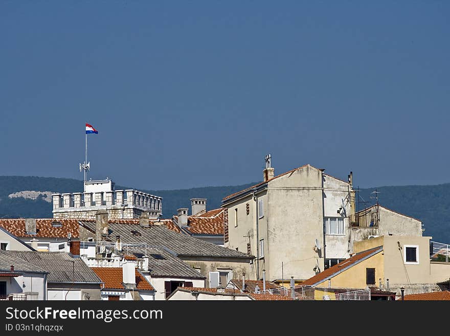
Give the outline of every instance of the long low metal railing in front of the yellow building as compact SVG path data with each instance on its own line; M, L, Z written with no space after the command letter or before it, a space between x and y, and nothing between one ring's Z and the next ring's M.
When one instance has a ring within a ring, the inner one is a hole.
M292 293L292 290L294 290L294 293ZM370 300L370 289L358 288L298 285L294 287L267 289L258 293L289 296L295 300Z

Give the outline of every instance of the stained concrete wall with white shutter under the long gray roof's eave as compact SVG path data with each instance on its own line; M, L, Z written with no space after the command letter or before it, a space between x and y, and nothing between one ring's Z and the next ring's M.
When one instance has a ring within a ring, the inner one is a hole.
M201 275L206 277L207 287L210 287L209 283L210 272L218 272L220 270L231 270L232 275L230 276L229 280L231 280L232 278L240 278L242 273L245 273L246 275L250 274L249 262L237 261L236 260L237 258L208 258L209 260L206 260L201 259L199 257L195 259L184 256L178 257L188 265L194 267Z

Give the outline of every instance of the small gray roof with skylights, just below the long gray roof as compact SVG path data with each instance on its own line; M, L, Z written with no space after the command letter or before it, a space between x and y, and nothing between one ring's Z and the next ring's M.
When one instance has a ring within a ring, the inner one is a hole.
M161 255L164 259L152 255ZM163 249L147 248L147 256L150 276L205 279L194 268Z

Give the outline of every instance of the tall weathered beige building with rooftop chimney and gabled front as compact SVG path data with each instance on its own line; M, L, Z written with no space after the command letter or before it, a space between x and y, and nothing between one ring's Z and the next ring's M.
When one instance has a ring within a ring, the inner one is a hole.
M266 162L264 181L222 200L225 246L253 254L250 279L297 283L349 256L354 215L352 176L348 181L305 165L274 176Z

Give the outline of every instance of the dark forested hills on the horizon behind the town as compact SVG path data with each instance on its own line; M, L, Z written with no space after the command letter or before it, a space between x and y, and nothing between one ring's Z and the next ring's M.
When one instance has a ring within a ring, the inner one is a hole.
M179 190L144 190L163 197L163 217L170 218L178 208L190 209L190 198L207 198L207 209L219 208L221 199L248 188L255 183L240 186L201 187ZM433 186L386 186L360 189L356 205L359 209L375 203L376 189L379 203L389 209L420 219L426 236L450 243L450 184ZM116 189L132 189L116 186ZM139 189L139 188L138 188ZM36 176L0 176L0 217L52 217L52 192L80 192L83 182L71 178ZM140 189L141 190L141 189ZM34 192L33 192L34 191ZM363 203L370 201L370 203Z

